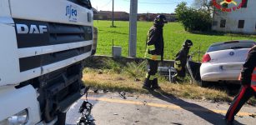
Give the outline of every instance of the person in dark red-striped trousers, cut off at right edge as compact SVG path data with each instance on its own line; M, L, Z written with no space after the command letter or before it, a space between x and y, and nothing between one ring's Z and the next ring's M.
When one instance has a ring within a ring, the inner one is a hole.
M227 124L233 124L234 116L243 107L243 104L253 95L256 96L256 45L248 52L239 80L242 87L228 108L225 117Z

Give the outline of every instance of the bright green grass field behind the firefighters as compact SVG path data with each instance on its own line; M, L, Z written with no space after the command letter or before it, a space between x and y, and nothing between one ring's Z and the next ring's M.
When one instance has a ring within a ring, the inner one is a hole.
M94 21L94 27L98 28L98 55L112 54L112 40L115 46L121 46L123 57L128 57L128 22L115 22L117 28L110 28L111 21ZM148 29L153 23L138 22L138 44L137 57L143 57L145 52L145 41L147 38ZM198 51L201 45L201 51L205 52L208 46L214 42L223 42L230 40L255 40L253 35L239 35L219 32L201 32L191 33L183 29L181 23L168 23L163 29L164 37L164 59L173 59L178 50L182 47L185 39L193 41L194 46L191 52Z

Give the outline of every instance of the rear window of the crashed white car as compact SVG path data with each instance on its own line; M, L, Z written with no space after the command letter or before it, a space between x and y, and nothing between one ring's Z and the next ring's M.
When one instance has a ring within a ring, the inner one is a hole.
M214 52L226 49L251 48L256 42L223 42L222 44L212 45L207 52Z

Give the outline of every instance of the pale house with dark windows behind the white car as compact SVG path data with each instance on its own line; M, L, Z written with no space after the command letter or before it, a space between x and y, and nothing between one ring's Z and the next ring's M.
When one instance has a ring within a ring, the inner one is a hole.
M228 4L228 8L235 5ZM216 9L213 13L213 30L256 34L256 1L246 0L243 7L229 13Z

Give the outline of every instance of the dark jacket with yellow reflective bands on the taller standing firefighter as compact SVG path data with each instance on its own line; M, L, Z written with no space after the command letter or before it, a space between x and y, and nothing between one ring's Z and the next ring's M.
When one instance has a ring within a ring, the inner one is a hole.
M163 61L163 27L154 25L148 31L145 58Z

